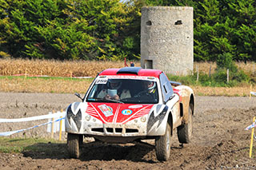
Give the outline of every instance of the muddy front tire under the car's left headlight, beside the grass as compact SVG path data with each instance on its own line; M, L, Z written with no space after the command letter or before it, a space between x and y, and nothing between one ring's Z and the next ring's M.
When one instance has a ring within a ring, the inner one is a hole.
M79 145L81 142L81 138L81 135L67 133L67 149L71 158L79 158Z

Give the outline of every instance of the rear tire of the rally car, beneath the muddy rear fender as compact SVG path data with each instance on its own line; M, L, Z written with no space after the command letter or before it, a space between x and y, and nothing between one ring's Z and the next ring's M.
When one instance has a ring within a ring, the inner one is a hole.
M188 144L190 143L191 137L192 137L192 108L193 105L190 105L189 108L189 117L188 121L184 125L178 126L178 141L182 144Z

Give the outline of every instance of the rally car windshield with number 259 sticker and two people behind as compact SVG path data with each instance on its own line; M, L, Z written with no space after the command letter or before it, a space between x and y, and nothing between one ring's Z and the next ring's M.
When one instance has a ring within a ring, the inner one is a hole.
M88 102L130 104L158 103L158 85L153 77L141 79L98 78L86 97Z

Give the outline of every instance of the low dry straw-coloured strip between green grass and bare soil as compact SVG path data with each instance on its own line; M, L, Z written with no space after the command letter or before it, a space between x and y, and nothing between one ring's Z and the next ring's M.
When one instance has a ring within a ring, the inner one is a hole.
M86 93L92 79L88 80L54 80L54 79L0 79L0 89L2 92L22 92L22 93ZM197 96L230 96L248 97L250 86L243 87L201 87L191 86ZM252 91L256 87L253 86Z

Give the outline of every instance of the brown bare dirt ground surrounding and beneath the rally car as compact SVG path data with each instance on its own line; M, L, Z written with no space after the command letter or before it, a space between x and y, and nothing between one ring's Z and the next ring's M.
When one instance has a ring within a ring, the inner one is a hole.
M0 118L32 117L65 109L79 101L73 94L0 93ZM256 97L196 97L194 137L182 148L173 136L170 160L159 162L154 141L146 144L86 143L79 160L69 159L66 144L37 144L50 152L0 153L1 169L256 169L256 152L249 158L251 124ZM0 124L1 131L38 125L45 121ZM14 136L48 137L46 127ZM56 136L55 136L56 137ZM66 136L63 136L63 140ZM57 139L57 138L56 138ZM87 140L87 139L86 139ZM254 144L255 145L255 144Z

